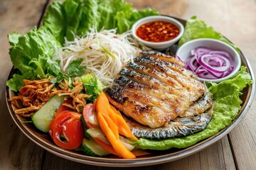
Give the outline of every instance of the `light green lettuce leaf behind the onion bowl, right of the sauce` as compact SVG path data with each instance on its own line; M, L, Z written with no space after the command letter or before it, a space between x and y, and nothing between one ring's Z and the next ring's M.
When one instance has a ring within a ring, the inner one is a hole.
M178 45L183 45L183 43L188 42L189 40L194 40L197 38L213 38L226 42L228 45L231 45L238 52L239 48L233 45L227 38L222 34L218 33L213 29L213 27L207 26L205 22L199 21L196 19L196 16L191 17L186 21L186 26L184 33L181 37L181 40L178 41Z

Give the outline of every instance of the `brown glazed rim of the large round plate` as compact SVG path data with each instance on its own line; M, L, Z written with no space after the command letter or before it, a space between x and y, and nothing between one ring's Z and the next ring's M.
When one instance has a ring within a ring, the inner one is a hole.
M172 17L172 16L169 16ZM175 17L172 17L175 18ZM181 21L181 23L186 23L185 20L176 18L178 21ZM192 145L191 147L186 147L184 149L179 150L178 152L172 152L169 154L162 154L157 155L154 157L145 157L145 158L137 158L137 159L115 159L115 158L105 158L105 157L90 157L87 155L82 155L79 153L75 153L72 151L64 150L57 145L54 145L53 143L49 144L46 141L43 141L43 139L38 139L36 135L31 134L29 132L28 127L24 126L23 123L21 123L20 120L18 120L18 115L16 115L11 107L10 102L8 101L8 98L11 96L13 92L9 89L8 86L6 86L6 105L8 107L9 113L11 115L11 118L14 120L18 128L23 132L23 134L26 135L30 140L32 140L36 145L42 147L43 149L46 149L48 152L57 155L58 157L62 157L65 159L69 159L73 162L79 162L82 164L90 164L95 166L109 166L109 167L133 167L133 166L150 166L154 164L163 164L166 162L172 162L177 159L181 159L183 157L188 157L191 154L196 154L196 152L199 152L206 147L210 147L210 145L213 145L215 142L220 140L222 137L227 135L233 128L235 128L238 123L241 122L241 120L245 117L247 112L249 111L249 108L252 104L253 97L255 95L255 76L253 74L252 67L250 65L250 62L247 60L245 55L243 55L242 51L240 50L240 58L242 60L242 65L245 65L247 67L247 72L252 77L252 84L248 87L248 93L245 98L245 102L242 104L242 108L240 109L237 117L235 120L233 120L230 125L226 126L223 130L220 130L215 135L206 138L205 140L201 140L200 142L197 142L195 145ZM11 69L11 72L9 73L8 79L11 78L12 74L14 73L14 67Z

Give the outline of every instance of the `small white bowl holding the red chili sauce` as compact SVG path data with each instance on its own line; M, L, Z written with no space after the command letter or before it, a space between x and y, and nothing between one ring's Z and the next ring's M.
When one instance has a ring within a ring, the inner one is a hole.
M144 23L149 23L149 22L153 22L153 21L166 21L166 22L174 24L174 26L178 27L178 30L179 30L178 36L172 40L168 40L168 41L164 41L164 42L149 42L149 41L145 41L145 40L142 40L141 38L139 38L136 35L137 28L139 28L139 26L141 26ZM170 47L171 45L173 45L175 42L177 42L181 38L183 33L184 33L184 27L183 27L182 23L180 23L176 19L171 18L169 16L147 16L145 18L140 19L139 21L134 23L134 25L132 26L132 35L134 36L134 38L139 40L139 42L142 42L144 45L151 47L155 50L164 50L167 47Z

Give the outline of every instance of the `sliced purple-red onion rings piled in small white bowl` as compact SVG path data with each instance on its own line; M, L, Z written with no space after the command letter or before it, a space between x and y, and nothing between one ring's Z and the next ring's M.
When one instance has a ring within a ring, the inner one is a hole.
M196 47L191 50L185 67L203 79L219 79L233 71L234 60L228 52Z

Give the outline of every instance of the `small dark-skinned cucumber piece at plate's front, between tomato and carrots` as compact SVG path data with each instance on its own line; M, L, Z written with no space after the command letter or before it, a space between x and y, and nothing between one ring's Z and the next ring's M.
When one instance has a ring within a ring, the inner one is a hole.
M82 152L92 157L102 157L110 154L105 149L100 147L100 145L98 145L97 142L95 142L95 140L92 138L90 140L87 140L86 138L82 140Z

